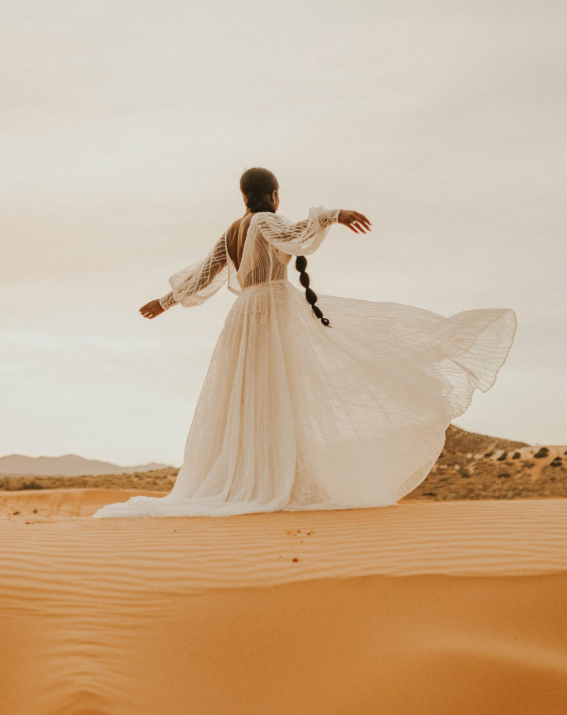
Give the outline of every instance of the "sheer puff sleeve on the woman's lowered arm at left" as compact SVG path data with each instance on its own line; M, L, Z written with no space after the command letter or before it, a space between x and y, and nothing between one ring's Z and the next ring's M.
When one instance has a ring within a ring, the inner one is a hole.
M159 299L164 310L180 303L184 307L201 305L228 280L225 235L215 243L205 258L192 263L169 279L172 290Z

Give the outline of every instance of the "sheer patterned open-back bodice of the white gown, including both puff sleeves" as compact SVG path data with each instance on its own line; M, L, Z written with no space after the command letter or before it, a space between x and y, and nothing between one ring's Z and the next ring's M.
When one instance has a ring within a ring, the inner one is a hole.
M226 250L225 231L204 259L171 276L172 290L159 299L161 307L200 305L226 283L231 292L239 294L254 285L285 280L291 256L316 251L340 211L312 207L308 217L296 223L268 211L254 214L238 270Z

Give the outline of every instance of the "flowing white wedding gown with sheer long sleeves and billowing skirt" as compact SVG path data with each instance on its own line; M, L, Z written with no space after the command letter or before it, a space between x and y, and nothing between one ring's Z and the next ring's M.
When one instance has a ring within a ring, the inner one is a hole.
M287 275L339 209L293 223L256 213L236 270L226 232L169 280L164 307L199 305L228 283L226 316L171 493L134 496L95 518L387 506L436 462L448 424L486 392L516 332L509 308L450 317L318 294L330 325Z

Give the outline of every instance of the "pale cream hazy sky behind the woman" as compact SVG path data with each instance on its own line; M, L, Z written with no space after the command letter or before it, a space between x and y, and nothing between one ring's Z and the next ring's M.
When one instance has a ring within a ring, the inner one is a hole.
M138 311L243 215L252 166L291 220L373 223L331 228L318 294L515 310L454 424L566 444L566 4L198 5L1 4L0 455L181 464L236 297Z

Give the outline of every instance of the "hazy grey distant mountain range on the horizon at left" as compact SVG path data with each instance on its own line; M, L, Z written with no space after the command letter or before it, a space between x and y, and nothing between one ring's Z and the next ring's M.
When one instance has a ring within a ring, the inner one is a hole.
M22 454L10 454L0 457L0 474L25 474L39 476L79 477L84 474L133 474L165 469L166 464L143 464L136 467L121 467L111 462L98 459L85 459L76 454L61 457L26 457Z

